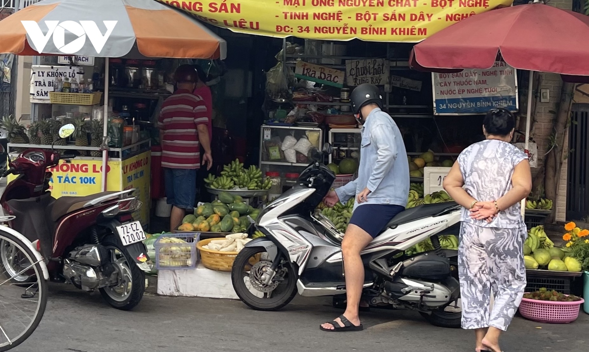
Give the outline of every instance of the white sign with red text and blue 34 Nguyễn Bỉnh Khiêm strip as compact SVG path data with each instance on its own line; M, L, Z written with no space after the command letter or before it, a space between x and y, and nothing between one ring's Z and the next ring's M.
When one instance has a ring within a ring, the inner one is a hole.
M435 115L485 114L495 108L517 111L515 68L497 61L489 69L432 74Z

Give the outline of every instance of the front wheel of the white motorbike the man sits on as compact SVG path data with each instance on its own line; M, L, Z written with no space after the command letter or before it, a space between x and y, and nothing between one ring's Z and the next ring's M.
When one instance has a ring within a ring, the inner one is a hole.
M296 295L296 273L289 261L281 257L276 275L266 283L266 270L271 265L272 259L263 247L243 248L233 262L233 288L243 303L255 310L279 310Z

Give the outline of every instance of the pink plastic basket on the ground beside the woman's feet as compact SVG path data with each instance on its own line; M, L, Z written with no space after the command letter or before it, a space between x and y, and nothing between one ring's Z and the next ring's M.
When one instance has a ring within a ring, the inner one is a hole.
M575 302L552 302L522 298L519 313L522 317L540 323L571 323L579 316L584 300Z

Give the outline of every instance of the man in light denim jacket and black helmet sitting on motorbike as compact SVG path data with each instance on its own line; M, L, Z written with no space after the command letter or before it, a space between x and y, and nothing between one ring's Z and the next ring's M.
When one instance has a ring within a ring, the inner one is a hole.
M409 163L401 131L389 114L382 111L382 95L375 85L362 84L350 97L352 111L362 124L358 178L330 191L325 204L356 197L354 212L342 241L346 278L347 308L325 331L362 330L358 316L364 284L360 252L378 236L385 225L405 210L409 194Z

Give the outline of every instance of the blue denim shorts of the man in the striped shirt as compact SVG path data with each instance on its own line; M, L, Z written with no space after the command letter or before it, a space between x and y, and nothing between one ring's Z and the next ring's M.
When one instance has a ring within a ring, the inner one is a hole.
M164 168L168 204L180 209L194 209L197 172L196 169Z

